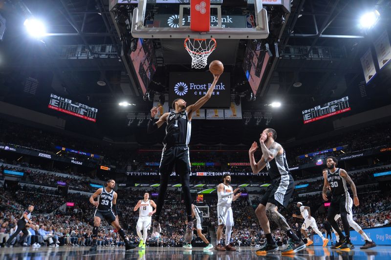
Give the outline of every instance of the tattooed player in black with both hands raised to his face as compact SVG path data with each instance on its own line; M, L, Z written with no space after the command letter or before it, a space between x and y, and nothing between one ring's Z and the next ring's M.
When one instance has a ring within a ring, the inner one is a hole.
M272 128L263 130L260 138L262 157L258 163L254 159L254 153L258 149L257 142L254 142L248 151L253 172L258 173L266 166L272 179L272 184L267 188L266 193L261 199L261 203L255 210L255 214L260 221L267 240L267 243L261 249L257 250L257 254L266 254L279 250L278 245L271 235L269 219L273 220L285 230L287 236L292 240L288 247L281 252L283 255L293 254L305 248L304 242L292 232L285 218L278 212L278 206L286 208L288 205L295 185L293 177L289 172L285 150L281 144L275 141L276 138L276 130Z

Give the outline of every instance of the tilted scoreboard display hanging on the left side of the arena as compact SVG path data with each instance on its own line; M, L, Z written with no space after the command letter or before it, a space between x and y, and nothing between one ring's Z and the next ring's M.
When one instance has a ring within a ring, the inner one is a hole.
M98 109L94 107L65 99L54 94L50 94L48 108L92 122L96 122L96 114L98 113Z

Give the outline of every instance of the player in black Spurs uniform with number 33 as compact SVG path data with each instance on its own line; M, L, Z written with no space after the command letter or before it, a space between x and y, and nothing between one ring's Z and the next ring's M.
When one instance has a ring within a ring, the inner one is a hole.
M125 231L121 228L117 213L117 193L113 190L115 180L108 180L103 188L97 189L89 198L89 202L96 207L94 213L94 227L92 228L92 246L89 251L96 251L97 237L101 220L106 220L111 224L125 242L125 250L130 250L136 246L131 245L125 238ZM98 198L98 201L95 201Z

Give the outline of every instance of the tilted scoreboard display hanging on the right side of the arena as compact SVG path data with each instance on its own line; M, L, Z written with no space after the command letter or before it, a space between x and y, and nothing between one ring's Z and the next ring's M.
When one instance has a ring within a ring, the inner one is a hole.
M349 97L303 110L304 124L350 111Z

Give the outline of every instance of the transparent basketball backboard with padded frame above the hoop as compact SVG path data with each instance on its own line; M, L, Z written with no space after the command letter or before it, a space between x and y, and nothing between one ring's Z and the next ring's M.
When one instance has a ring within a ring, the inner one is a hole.
M111 0L132 4L131 34L157 39L265 39L269 35L262 0L210 0L210 30L190 29L191 0ZM209 5L208 5L209 6Z

